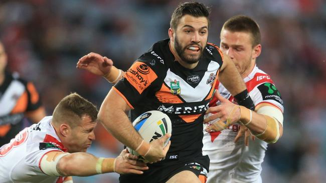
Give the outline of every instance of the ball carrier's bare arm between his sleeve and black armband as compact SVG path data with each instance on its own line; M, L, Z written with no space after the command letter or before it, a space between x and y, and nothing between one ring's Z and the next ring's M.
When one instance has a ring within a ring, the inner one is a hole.
M224 54L219 80L230 91L232 96L247 89L237 67L227 54Z

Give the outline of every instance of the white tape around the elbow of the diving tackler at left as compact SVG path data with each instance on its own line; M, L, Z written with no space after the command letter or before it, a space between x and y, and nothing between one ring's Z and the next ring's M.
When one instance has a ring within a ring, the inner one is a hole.
M59 174L58 170L57 170L57 164L59 162L59 160L65 156L68 155L70 153L65 152L65 153L60 153L56 159L49 161L48 160L48 155L45 154L43 156L43 158L41 159L41 163L40 163L40 167L42 169L42 171L50 176L61 176L61 174Z

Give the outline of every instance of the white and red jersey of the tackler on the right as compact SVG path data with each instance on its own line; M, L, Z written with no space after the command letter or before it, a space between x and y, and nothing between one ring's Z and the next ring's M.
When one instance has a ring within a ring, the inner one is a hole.
M249 95L255 106L260 103L269 103L283 112L282 97L268 74L257 66L244 78ZM222 83L216 84L217 92L230 101L235 102L231 93ZM219 105L216 97L210 106ZM256 138L245 146L244 137L237 143L234 139L240 125L235 123L229 128L217 132L204 130L203 154L210 157L210 171L207 182L261 182L260 172L267 143Z

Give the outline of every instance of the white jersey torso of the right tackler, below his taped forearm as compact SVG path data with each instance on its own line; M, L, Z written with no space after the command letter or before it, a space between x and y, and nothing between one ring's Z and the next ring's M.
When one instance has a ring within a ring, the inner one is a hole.
M249 146L245 146L244 136L234 143L238 130L230 128L223 130L215 139L204 132L203 154L208 154L211 160L207 183L262 182L261 163L267 143L256 138L254 141L250 139Z

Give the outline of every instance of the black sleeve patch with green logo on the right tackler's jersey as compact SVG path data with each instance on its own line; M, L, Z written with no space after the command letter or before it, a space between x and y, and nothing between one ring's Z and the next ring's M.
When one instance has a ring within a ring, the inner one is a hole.
M263 100L275 100L283 105L283 99L281 94L277 90L274 84L270 82L265 82L264 84L260 84L258 86L259 91L263 97Z

